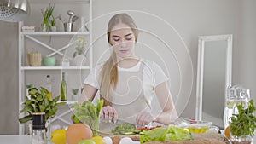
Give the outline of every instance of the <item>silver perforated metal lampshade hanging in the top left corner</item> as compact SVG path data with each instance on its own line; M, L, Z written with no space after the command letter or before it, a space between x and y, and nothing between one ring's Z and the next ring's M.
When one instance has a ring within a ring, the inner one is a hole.
M9 22L25 20L29 11L27 0L0 0L0 20Z

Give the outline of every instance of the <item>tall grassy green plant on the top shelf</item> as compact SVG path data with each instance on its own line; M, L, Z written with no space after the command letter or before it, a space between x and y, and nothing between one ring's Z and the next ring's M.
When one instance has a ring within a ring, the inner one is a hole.
M55 5L49 3L49 7L41 9L41 13L43 15L43 24L42 24L42 31L51 31L52 22L51 19L53 18L53 11L55 9ZM55 21L55 20L54 20Z

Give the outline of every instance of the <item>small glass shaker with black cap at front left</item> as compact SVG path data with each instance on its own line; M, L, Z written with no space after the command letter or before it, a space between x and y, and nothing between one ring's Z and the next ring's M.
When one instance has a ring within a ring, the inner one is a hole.
M47 144L44 112L32 114L32 144Z

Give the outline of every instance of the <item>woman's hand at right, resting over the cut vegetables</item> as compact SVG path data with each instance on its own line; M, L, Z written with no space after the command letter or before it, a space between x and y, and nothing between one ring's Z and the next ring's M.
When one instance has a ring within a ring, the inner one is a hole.
M155 116L151 112L140 112L137 114L136 117L136 125L137 128L143 127L145 125L148 125L151 122L154 122Z

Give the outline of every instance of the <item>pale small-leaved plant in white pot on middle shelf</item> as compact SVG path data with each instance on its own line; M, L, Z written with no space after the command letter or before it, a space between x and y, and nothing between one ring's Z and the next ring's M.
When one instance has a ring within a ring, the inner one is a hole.
M84 36L78 36L75 39L74 45L75 45L75 52L73 53L73 58L77 66L84 66L85 65L85 59L84 56L85 48L86 48L86 37Z

